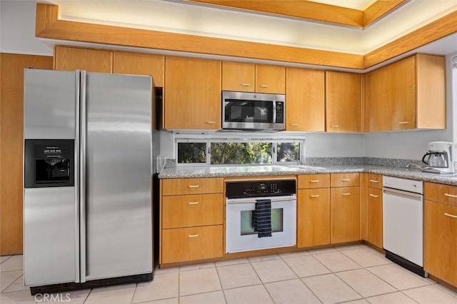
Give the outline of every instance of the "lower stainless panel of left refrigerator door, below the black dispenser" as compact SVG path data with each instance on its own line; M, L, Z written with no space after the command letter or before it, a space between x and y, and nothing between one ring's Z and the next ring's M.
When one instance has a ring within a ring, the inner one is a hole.
M74 187L26 188L24 282L75 281Z

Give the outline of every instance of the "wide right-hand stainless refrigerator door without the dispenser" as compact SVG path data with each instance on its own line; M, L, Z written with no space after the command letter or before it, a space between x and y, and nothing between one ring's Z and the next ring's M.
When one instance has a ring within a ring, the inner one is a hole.
M86 74L86 280L152 272L151 83Z

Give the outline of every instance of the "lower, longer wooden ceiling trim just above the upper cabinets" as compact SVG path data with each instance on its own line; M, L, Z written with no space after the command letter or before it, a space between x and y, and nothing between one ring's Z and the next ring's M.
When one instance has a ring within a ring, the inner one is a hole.
M65 21L59 20L59 6L36 4L36 36L40 38L360 70L456 32L457 11L453 11L363 56L296 46Z

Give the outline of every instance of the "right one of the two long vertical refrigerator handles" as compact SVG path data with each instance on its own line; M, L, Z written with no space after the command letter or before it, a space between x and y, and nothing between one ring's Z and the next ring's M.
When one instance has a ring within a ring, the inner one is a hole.
M79 244L80 244L80 275L81 283L86 282L89 274L86 269L86 141L87 141L87 111L86 111L86 71L80 71L80 134L79 134Z

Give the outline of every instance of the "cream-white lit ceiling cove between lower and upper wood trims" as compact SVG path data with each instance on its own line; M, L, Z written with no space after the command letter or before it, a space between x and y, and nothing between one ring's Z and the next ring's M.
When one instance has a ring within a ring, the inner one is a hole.
M287 0L284 0L287 1ZM314 0L363 9L373 0ZM367 54L441 16L457 10L457 0L410 0L366 29L221 9L183 0L46 0L58 4L60 18L241 41ZM442 49L442 48L441 48ZM457 44L446 46L446 54Z

